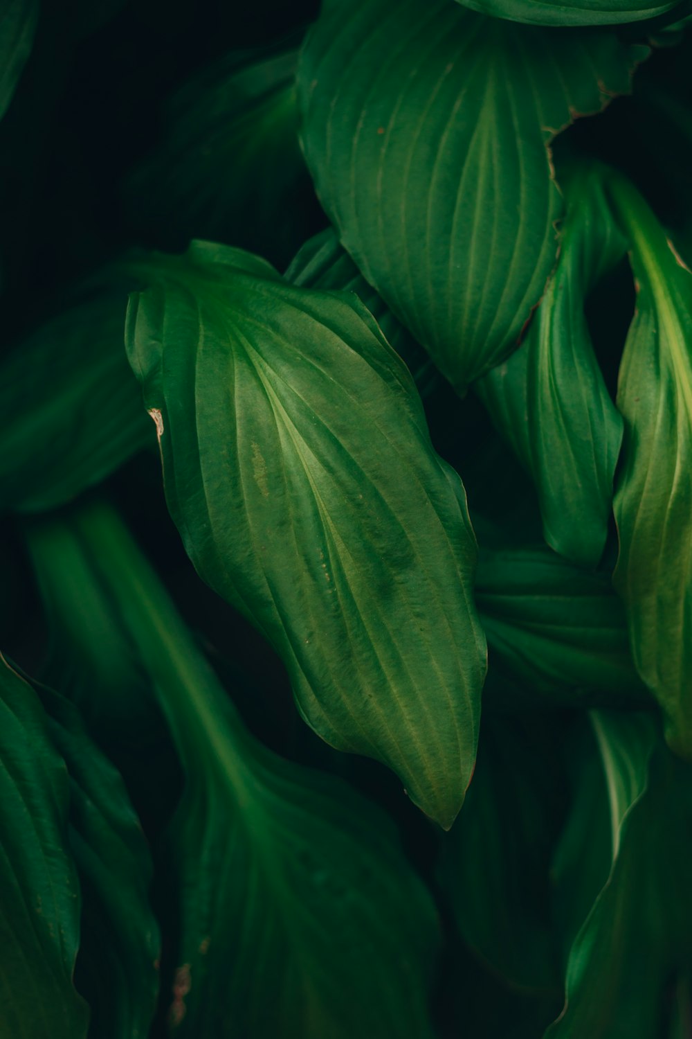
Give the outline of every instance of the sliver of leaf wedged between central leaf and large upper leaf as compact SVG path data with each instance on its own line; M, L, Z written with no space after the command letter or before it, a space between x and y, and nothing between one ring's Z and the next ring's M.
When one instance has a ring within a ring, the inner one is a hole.
M380 325L387 342L406 362L421 397L425 398L434 391L440 379L435 365L372 286L367 284L332 228L305 243L284 277L303 289L355 292Z

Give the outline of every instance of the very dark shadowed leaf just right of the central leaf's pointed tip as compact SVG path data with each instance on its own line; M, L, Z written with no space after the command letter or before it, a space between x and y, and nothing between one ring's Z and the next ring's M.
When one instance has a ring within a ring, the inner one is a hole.
M552 992L558 1009L549 867L561 783L556 725L485 717L473 783L438 869L466 943L514 987Z

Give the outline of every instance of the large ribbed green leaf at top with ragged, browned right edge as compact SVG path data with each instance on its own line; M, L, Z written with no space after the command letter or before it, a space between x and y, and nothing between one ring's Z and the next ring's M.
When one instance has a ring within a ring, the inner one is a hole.
M551 138L627 91L644 54L448 0L324 4L298 76L317 193L460 392L515 348L555 262Z

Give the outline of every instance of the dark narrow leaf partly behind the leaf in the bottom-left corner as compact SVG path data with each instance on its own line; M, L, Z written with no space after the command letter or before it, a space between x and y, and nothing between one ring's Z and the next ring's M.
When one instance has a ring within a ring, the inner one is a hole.
M70 772L70 848L82 893L76 982L89 1035L148 1035L159 989L151 862L122 780L86 735L74 705L40 690L53 744Z

